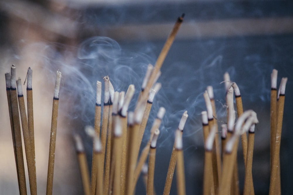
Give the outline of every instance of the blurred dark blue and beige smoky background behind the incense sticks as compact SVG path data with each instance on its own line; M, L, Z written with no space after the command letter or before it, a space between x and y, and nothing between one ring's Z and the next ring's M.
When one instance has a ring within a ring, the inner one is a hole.
M206 110L203 92L214 87L219 125L226 121L223 75L238 84L243 109L253 109L255 132L253 180L255 194L268 194L270 181L270 74L277 69L278 85L288 77L281 141L282 193L290 194L293 149L292 1L19 1L0 2L0 194L18 194L17 175L5 95L4 73L11 64L24 81L33 69L35 148L38 193L44 194L56 70L62 72L55 153L53 194L82 194L72 135L79 133L91 164L91 139L96 81L109 75L114 89L138 96L148 63L154 64L178 16L184 22L161 68L162 89L156 94L150 128L160 106L167 112L158 140L155 189L163 193L174 131L185 110L183 133L187 194L202 193L203 136L200 113ZM25 88L23 88L25 89ZM24 96L26 92L24 90ZM130 110L134 109L132 101ZM146 130L147 132L147 130ZM148 140L144 136L143 144ZM239 152L240 188L244 165ZM27 177L28 178L28 177ZM27 179L28 185L28 179ZM29 190L29 187L27 187ZM136 194L145 193L142 178ZM170 194L176 192L176 175Z

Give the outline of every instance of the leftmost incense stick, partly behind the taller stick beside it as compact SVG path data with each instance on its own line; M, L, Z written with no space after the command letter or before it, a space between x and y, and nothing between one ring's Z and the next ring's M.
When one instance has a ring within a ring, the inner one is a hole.
M10 73L5 73L5 81L6 81L6 95L7 95L7 103L8 103L8 112L9 112L9 119L10 119L10 127L11 127L11 135L12 135L12 143L13 143L13 151L14 151L14 158L15 158L15 165L16 165L16 173L17 173L17 182L18 182L18 189L20 190L20 183L19 183L19 173L18 173L18 163L17 163L17 156L16 156L16 143L15 143L15 135L14 135L14 125L13 125L13 113L12 113L12 105L11 105L11 80L10 80ZM19 193L21 193L19 191Z

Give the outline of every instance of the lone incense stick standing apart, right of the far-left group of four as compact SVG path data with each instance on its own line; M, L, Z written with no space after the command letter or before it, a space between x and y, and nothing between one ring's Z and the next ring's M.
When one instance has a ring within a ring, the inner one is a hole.
M48 175L47 175L47 191L46 191L47 195L51 195L53 190L53 175L54 175L60 82L61 82L61 72L57 70L54 97L53 97L53 107L52 107L50 148L49 148Z

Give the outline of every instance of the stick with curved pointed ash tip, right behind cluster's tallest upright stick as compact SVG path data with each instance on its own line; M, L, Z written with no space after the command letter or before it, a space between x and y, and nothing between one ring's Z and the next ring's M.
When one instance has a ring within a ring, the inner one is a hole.
M112 111L113 111L113 101L114 101L114 87L109 80L109 116L108 116L108 132L107 132L107 144L106 144L106 154L105 154L105 168L104 168L104 194L108 194L109 189L109 178L110 178L110 164L111 164L111 151L112 151Z

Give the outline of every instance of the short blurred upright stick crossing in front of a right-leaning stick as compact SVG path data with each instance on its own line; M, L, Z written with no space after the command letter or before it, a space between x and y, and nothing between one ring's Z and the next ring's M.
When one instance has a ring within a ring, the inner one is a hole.
M180 132L177 131L177 134ZM178 137L180 137L178 135ZM184 173L184 158L183 158L183 144L182 136L176 140L175 148L177 150L177 164L176 164L176 176L177 176L177 194L185 195L185 173Z

